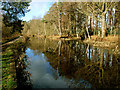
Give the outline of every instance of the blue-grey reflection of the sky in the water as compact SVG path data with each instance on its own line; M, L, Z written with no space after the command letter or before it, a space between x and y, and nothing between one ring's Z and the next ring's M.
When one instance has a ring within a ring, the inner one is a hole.
M41 52L35 55L34 50L27 48L26 55L31 63L27 70L31 73L30 78L33 88L67 88L70 87L71 84L74 85L74 79L59 76L59 73L56 72L47 61L47 57L44 53ZM85 87L91 87L88 82L82 79L80 79L80 82L87 83Z

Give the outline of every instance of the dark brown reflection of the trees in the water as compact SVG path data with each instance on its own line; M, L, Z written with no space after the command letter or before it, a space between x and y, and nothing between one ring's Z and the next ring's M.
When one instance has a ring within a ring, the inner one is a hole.
M31 38L28 47L35 53L44 53L58 72L55 79L62 76L72 80L69 87L91 87L90 84L93 88L120 86L120 56L113 54L111 49L96 48L81 41L40 39L38 42L37 38Z

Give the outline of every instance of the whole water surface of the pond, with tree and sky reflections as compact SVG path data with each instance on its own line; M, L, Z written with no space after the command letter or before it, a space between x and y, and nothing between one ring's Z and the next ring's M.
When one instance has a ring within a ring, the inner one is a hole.
M17 87L120 87L120 56L112 49L95 48L81 41L31 38L24 55L24 68L16 69Z

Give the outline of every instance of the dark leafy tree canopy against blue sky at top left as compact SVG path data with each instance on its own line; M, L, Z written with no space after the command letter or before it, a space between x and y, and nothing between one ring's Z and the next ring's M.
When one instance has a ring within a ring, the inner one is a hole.
M22 29L21 17L25 16L25 13L29 12L30 2L2 2L3 10L3 23L6 27L13 27L12 32Z

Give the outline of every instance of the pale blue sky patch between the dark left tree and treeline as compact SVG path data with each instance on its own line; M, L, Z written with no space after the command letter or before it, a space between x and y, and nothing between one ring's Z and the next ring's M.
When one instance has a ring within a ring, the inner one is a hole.
M22 17L24 21L29 21L33 18L43 18L49 8L52 6L54 2L39 2L36 0L32 0L29 8L31 9L29 12L25 14L25 17Z

